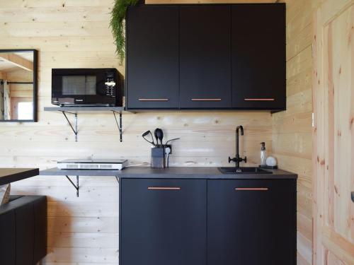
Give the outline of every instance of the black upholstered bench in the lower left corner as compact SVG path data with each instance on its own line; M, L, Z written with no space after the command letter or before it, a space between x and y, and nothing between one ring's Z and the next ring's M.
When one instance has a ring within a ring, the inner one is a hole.
M10 196L0 206L0 264L33 265L47 254L47 197Z

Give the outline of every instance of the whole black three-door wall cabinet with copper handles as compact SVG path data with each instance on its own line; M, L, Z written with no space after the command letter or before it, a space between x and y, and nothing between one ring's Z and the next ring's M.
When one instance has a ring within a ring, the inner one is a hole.
M285 4L127 10L127 108L285 110Z

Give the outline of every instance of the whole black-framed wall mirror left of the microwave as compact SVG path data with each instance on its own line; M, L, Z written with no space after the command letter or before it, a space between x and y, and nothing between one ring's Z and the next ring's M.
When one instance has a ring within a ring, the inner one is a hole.
M0 49L0 122L37 122L35 49Z

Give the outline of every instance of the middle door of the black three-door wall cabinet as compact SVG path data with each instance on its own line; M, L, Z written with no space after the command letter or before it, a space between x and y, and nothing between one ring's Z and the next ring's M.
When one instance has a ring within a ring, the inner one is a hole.
M231 107L230 16L230 6L181 6L181 108Z

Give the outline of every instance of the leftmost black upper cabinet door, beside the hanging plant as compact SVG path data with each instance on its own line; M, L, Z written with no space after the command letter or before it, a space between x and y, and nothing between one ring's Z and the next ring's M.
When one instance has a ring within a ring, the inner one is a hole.
M127 11L127 108L178 108L178 6Z

